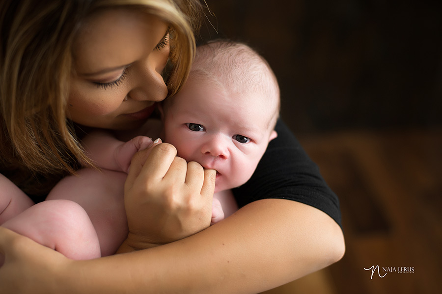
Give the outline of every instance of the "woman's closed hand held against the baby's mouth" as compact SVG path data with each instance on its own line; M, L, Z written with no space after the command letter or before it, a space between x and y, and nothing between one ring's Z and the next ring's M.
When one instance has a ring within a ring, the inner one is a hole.
M132 159L125 183L129 234L118 252L154 247L210 225L214 170L176 156L170 144L154 144Z

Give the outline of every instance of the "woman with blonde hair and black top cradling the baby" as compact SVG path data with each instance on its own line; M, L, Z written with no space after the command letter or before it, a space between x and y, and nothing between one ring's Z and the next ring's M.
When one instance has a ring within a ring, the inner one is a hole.
M197 1L0 5L0 172L35 202L80 162L92 165L79 147L82 132L135 131L189 72ZM2 293L257 293L339 260L337 199L282 123L277 132L255 175L235 191L243 207L199 233L210 219L214 173L188 167L165 144L132 161L120 248L129 253L72 261L0 228ZM167 174L198 185L170 189L176 183L163 181ZM159 180L146 187L152 178Z

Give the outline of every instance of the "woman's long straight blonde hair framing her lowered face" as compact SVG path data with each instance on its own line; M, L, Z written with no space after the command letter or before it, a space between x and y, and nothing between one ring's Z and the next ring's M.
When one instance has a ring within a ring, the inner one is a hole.
M174 94L192 64L199 5L198 0L2 0L0 173L27 193L44 193L33 191L38 181L75 173L79 162L92 164L65 115L72 44L85 18L102 9L133 8L168 23L167 87ZM51 185L43 183L42 189Z

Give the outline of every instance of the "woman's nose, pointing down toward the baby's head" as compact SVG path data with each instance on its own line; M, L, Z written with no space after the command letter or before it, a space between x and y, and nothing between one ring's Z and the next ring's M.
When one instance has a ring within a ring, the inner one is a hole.
M134 88L128 97L138 101L162 101L167 96L167 87L161 72L164 67L145 64L134 71Z

